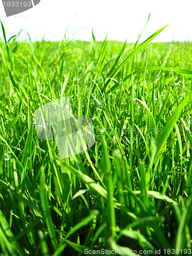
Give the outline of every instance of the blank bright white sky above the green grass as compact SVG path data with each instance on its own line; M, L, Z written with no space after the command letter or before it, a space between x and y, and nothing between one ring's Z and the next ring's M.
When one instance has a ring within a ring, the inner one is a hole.
M96 40L104 40L109 31L109 40L135 42L151 12L141 41L167 24L153 41L192 41L191 10L191 0L41 0L26 12L6 17L0 2L0 18L8 39L26 29L32 40L44 34L46 40L61 40L69 26L67 37L81 29L72 37L75 39L91 40L93 27ZM20 40L25 38L23 31Z

